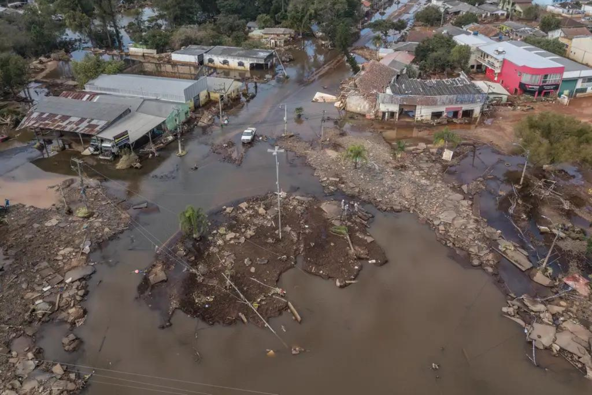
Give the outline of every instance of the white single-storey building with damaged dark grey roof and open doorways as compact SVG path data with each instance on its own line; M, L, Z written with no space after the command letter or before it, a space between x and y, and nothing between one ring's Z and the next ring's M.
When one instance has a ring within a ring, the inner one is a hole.
M412 79L398 75L378 95L378 115L383 120L430 121L474 118L481 113L487 95L464 73L458 78Z

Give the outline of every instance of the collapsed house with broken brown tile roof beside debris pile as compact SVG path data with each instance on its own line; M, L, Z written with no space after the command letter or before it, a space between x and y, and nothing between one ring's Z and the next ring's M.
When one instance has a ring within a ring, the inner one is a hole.
M366 63L343 91L346 111L374 118L378 94L384 92L395 75L397 70L376 60Z

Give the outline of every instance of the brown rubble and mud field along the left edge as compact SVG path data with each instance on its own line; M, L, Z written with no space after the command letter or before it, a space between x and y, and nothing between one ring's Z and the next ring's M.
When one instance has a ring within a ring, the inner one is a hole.
M88 254L127 229L130 216L110 204L98 181L85 180L88 210L80 185L66 179L48 193L62 204L50 209L11 206L0 216L0 393L4 395L75 393L88 377L43 359L35 334L43 323L83 325L81 306L87 279L95 271ZM67 206L63 204L66 202ZM114 203L115 204L115 203ZM63 348L82 343L64 333Z

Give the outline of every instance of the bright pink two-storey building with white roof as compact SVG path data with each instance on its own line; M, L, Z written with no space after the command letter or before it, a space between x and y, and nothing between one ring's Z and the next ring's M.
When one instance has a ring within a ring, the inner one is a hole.
M517 43L524 44L524 48ZM485 66L487 78L503 85L513 95L556 95L565 66L526 47L536 49L523 41L485 44L477 47L477 60Z

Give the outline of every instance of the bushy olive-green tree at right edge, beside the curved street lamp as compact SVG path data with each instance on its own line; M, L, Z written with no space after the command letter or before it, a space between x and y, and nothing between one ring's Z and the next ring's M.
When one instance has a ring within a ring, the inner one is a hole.
M523 118L515 130L535 163L592 164L592 126L588 123L546 111Z

